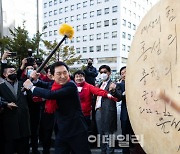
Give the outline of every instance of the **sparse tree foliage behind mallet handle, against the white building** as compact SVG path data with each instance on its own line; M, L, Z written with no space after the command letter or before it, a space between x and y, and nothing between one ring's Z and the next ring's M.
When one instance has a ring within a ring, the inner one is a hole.
M51 44L49 41L43 41L45 47L52 51L55 46L58 44L56 41L54 41L53 44ZM47 55L49 54L46 52ZM46 56L47 56L46 55ZM53 55L53 57L50 60L50 63L55 62L55 61L63 61L67 65L73 65L75 62L80 60L81 55L76 56L74 47L69 47L69 46L60 46L60 48L56 51L56 53Z

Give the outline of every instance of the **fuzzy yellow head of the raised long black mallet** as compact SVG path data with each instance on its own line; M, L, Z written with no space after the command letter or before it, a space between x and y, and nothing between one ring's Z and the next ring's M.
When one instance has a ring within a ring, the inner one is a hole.
M59 34L67 36L69 39L72 39L74 36L74 29L68 24L62 24L59 28Z

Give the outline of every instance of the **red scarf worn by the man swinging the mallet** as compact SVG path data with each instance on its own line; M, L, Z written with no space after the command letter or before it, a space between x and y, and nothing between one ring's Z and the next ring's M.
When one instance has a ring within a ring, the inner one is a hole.
M60 85L54 81L51 90L54 91L54 90L59 90L61 88L62 88L62 85ZM58 105L57 105L56 100L54 100L54 99L53 100L46 100L45 112L54 113L57 109L58 109Z

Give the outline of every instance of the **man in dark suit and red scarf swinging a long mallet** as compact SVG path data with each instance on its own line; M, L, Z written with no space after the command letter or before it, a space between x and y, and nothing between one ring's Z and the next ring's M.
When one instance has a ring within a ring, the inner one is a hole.
M35 96L52 99L49 100L47 111L56 111L58 134L55 154L89 154L91 151L88 145L87 125L81 111L77 87L70 80L68 66L63 62L56 62L52 64L50 71L54 78L51 90L45 89L51 83L40 80L36 86L43 88L33 86L29 79L25 81L24 87L30 89ZM36 81L36 72L33 72L31 77Z

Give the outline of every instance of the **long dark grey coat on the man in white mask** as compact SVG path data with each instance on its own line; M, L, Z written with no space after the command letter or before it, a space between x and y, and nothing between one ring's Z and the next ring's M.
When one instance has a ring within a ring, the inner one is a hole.
M109 80L105 90L111 93L114 97L120 99L121 91L119 86L116 86L114 93L109 91L109 86L112 81ZM101 99L101 124L102 131L113 133L117 130L117 108L116 102L108 98L102 97Z

